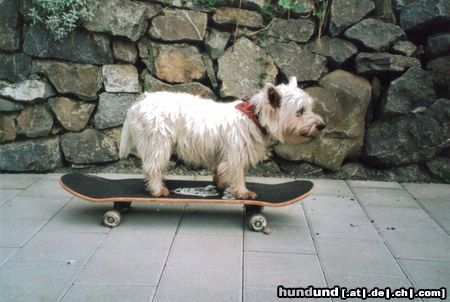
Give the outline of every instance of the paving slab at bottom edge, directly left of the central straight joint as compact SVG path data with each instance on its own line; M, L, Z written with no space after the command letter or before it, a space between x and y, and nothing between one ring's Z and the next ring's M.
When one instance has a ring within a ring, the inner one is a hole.
M241 268L205 268L166 266L154 302L242 300Z

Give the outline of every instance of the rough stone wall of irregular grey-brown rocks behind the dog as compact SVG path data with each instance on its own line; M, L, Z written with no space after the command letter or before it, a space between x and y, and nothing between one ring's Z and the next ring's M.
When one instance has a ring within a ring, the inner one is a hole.
M448 0L332 0L320 40L312 0L270 22L262 0L95 0L59 42L30 2L0 1L0 171L118 163L142 91L226 101L296 76L327 129L251 173L450 181Z

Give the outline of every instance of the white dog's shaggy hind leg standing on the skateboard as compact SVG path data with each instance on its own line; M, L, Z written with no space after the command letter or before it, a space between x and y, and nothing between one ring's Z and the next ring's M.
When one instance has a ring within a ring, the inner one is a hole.
M164 185L163 174L170 160L172 143L168 139L152 136L136 145L142 159L147 190L156 197L168 196L170 192Z

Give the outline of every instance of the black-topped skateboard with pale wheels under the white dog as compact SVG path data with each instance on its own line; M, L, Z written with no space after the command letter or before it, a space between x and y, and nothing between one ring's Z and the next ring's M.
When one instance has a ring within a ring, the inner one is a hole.
M172 202L244 205L250 216L250 229L269 233L264 207L283 207L296 203L311 194L314 184L296 180L281 184L246 183L257 199L235 199L229 190L220 190L212 182L195 180L166 180L170 191L167 197L153 197L145 190L143 178L107 179L94 175L69 173L60 179L60 185L70 194L91 202L113 202L113 210L103 216L103 224L113 228L122 221L122 213L132 202Z

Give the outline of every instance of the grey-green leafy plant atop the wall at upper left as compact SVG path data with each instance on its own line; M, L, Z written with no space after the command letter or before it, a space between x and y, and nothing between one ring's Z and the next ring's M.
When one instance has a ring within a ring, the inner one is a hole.
M72 32L82 18L92 16L89 0L33 0L28 11L32 25L42 23L55 41Z

